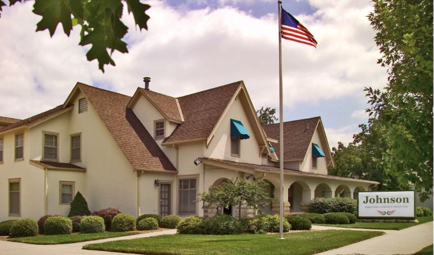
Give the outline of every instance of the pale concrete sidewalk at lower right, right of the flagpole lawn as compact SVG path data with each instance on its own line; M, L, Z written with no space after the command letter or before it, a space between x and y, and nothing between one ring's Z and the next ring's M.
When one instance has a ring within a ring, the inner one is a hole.
M414 254L432 244L432 230L432 221L400 231L378 230L387 232L387 234L318 254Z

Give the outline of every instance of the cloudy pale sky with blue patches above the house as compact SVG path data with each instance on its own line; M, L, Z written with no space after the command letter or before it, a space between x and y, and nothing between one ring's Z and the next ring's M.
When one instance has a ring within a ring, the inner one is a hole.
M116 66L88 62L79 28L67 37L35 32L33 1L4 7L0 17L0 116L27 118L63 104L76 82L132 96L150 77L150 89L182 96L243 80L256 109L278 115L277 1L149 0L148 30L130 28L129 53ZM321 116L329 146L348 144L367 123L364 87L381 89L387 70L378 65L367 15L369 0L284 0L318 41L317 48L282 40L284 121Z

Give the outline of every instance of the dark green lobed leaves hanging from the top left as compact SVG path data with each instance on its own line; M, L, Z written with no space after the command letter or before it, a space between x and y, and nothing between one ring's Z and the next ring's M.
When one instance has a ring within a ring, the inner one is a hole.
M10 0L9 5L17 2L23 0ZM96 59L99 69L104 72L104 65L115 65L111 58L115 50L128 52L127 44L122 41L128 30L120 20L122 2L125 2L128 12L133 13L139 29L147 30L149 16L145 11L150 6L139 0L35 0L33 12L42 16L36 25L36 31L48 30L50 36L53 36L57 25L62 23L63 31L69 36L72 27L80 25L79 45L92 45L86 54L87 60ZM0 0L0 14L4 6L4 0Z

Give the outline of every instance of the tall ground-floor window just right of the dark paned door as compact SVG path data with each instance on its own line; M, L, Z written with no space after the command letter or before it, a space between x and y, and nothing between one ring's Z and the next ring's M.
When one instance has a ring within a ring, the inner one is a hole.
M179 180L179 214L196 214L196 179Z

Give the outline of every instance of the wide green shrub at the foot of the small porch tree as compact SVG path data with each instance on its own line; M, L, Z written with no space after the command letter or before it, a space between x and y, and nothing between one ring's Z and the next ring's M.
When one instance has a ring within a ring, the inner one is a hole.
M231 215L217 214L203 219L203 233L209 235L240 234L241 224Z

